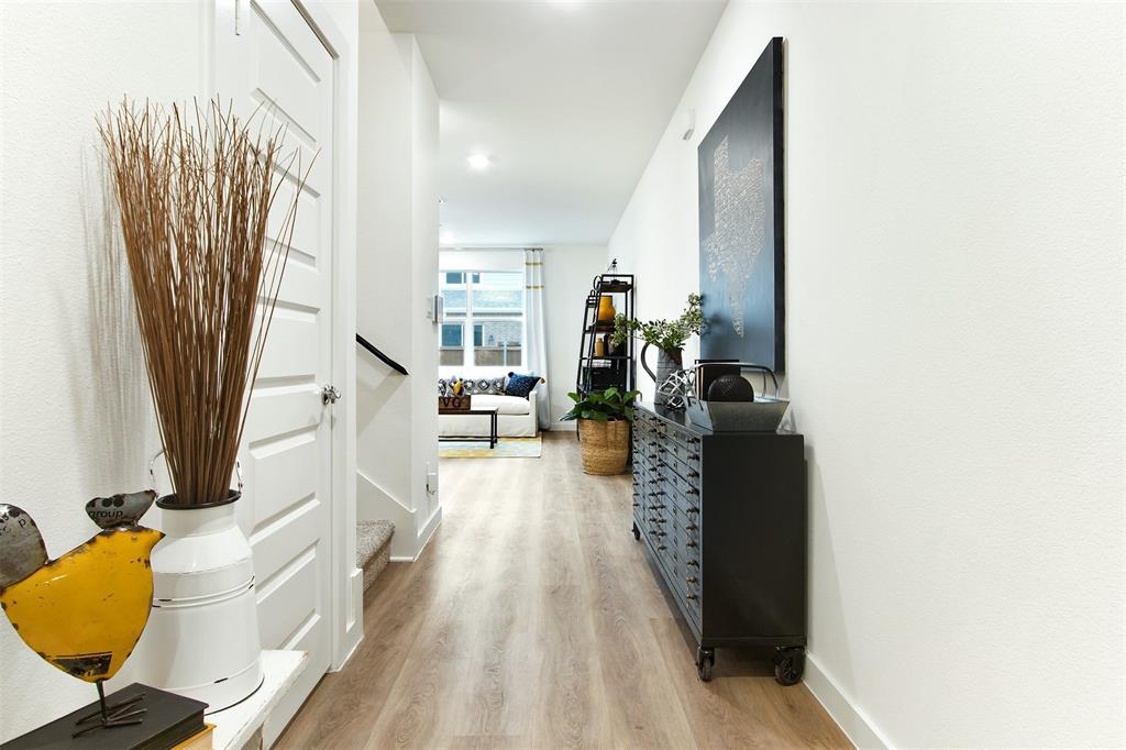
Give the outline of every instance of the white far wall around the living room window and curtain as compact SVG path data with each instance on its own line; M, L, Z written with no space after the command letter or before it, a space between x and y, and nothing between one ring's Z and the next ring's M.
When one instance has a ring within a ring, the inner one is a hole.
M524 273L522 249L446 249L439 253L443 270L509 270ZM547 338L547 381L553 430L573 430L574 422L560 422L570 410L568 392L574 390L579 358L579 332L583 303L593 277L606 269L606 248L598 245L547 245L544 248L544 336ZM472 372L467 367L441 367L444 376ZM527 368L525 368L527 372ZM544 387L544 386L540 386ZM538 393L538 392L537 392ZM543 398L542 395L538 398Z

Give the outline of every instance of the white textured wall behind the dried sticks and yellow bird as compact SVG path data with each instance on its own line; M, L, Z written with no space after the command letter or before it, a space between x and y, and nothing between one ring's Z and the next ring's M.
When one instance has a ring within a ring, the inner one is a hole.
M126 92L203 93L208 19L197 2L0 2L0 502L52 556L97 530L91 497L148 486L160 445L93 116ZM7 622L0 663L0 740L96 697Z

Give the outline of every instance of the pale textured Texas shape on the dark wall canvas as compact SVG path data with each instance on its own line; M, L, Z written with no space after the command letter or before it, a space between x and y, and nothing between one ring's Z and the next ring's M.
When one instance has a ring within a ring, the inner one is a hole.
M713 282L723 278L731 324L742 338L747 282L766 245L767 203L762 194L762 160L751 159L741 169L732 170L726 137L715 150L712 205L714 229L703 244L707 273Z

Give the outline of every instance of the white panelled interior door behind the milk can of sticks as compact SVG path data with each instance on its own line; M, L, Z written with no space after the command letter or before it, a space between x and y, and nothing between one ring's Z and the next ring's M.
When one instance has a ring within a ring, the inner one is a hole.
M254 551L263 649L307 651L309 664L266 726L271 742L331 661L333 60L289 0L239 0L238 33L216 29L220 93L269 130L286 128L312 171L298 197L285 279L258 381L241 461L239 520ZM298 162L294 162L295 166ZM276 238L296 182L275 202ZM269 242L268 242L268 250Z

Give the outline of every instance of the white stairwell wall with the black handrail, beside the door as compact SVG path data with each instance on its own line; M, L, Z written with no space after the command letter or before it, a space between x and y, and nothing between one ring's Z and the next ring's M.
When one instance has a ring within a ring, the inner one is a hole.
M410 376L357 360L357 512L395 524L392 555L414 557L440 519L437 466L438 100L413 37L360 6L357 325ZM431 439L432 438L432 439Z

